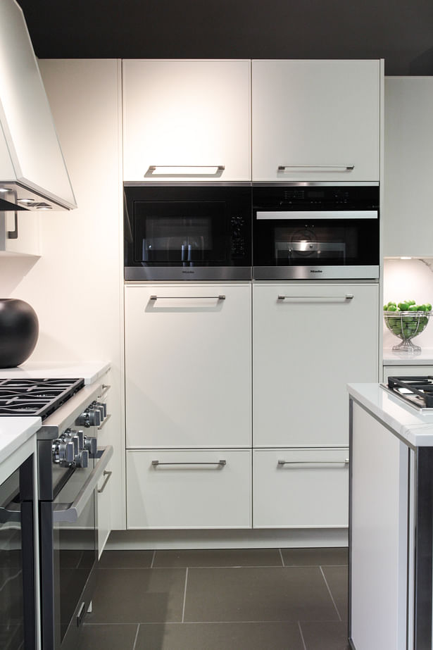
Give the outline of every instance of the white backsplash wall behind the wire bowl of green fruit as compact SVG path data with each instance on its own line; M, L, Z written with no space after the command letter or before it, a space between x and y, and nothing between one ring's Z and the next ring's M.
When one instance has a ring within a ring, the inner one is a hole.
M384 261L384 304L390 300L415 300L419 304L433 304L433 258L426 259L386 259ZM382 319L383 323L383 319ZM384 349L389 349L401 339L384 328ZM413 339L421 348L433 348L433 318L420 336Z

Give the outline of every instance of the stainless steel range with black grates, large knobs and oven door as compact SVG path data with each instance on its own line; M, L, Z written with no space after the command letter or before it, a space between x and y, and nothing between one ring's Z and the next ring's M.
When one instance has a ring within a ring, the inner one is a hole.
M77 647L94 588L95 488L113 448L98 448L108 387L83 379L0 380L0 417L39 415L37 432L42 648ZM26 646L27 647L27 646ZM31 647L31 646L29 646Z

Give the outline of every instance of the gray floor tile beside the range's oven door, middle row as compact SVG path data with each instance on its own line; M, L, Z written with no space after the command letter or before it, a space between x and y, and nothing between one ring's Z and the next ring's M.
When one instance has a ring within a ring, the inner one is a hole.
M87 623L182 620L185 569L99 569Z

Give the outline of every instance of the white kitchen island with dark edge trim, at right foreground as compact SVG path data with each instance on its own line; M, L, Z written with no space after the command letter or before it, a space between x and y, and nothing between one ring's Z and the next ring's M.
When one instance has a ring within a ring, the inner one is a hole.
M432 648L433 409L351 384L349 642Z

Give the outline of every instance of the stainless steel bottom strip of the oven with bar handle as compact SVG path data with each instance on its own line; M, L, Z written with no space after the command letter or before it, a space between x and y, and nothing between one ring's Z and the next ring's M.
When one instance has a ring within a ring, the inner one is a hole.
M379 266L253 266L253 280L379 280Z

